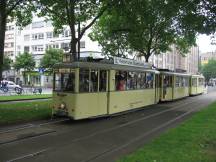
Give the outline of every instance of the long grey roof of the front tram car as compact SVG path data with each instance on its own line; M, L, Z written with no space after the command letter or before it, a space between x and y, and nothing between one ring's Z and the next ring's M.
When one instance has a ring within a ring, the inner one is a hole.
M160 73L154 69L148 69L144 67L127 66L127 65L117 65L109 63L99 63L99 62L72 62L72 63L59 63L54 66L54 68L92 68L92 69L112 69L112 70L125 70L125 71L145 71Z

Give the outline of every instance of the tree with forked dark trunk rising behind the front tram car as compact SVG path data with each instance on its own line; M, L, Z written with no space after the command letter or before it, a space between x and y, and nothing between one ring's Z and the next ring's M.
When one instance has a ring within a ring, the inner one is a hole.
M70 53L77 59L77 46L86 30L110 7L114 0L39 0L40 14L53 22L56 32L70 27ZM78 47L79 49L79 47Z

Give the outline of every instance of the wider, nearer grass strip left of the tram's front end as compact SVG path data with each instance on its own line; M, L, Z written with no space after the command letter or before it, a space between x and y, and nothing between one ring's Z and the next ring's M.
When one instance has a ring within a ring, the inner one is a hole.
M0 125L51 117L52 101L0 103Z

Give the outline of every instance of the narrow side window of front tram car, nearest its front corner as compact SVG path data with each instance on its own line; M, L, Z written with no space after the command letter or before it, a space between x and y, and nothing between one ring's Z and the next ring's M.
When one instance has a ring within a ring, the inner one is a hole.
M89 70L80 69L79 72L79 91L89 92Z

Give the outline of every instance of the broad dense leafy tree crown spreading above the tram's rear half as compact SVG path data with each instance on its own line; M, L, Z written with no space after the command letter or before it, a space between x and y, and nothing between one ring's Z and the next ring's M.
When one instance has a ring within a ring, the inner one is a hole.
M152 54L166 52L172 44L184 54L195 45L198 32L209 34L215 31L215 8L210 5L206 7L206 4L213 2L120 1L100 18L91 38L99 41L107 51L113 47L110 44L118 46L114 40L121 37L115 35L123 35L121 42L125 42L139 56L144 56L147 62Z

